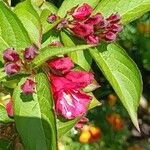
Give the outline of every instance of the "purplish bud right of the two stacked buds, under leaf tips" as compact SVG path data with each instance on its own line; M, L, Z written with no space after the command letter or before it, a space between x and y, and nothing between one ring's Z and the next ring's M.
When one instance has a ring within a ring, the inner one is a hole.
M27 47L24 50L24 58L27 61L33 60L37 54L38 54L38 50L37 50L36 46L34 46L34 45Z

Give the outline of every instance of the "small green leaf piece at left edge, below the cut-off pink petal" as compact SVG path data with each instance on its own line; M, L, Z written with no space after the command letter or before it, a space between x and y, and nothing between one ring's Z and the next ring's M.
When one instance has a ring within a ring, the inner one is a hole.
M0 104L0 122L8 123L13 122L13 119L9 118L4 105Z

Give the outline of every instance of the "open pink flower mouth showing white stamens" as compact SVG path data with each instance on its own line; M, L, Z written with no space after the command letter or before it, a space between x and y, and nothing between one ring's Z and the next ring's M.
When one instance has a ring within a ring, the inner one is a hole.
M74 119L87 111L91 97L81 91L67 90L55 94L56 113L66 119Z

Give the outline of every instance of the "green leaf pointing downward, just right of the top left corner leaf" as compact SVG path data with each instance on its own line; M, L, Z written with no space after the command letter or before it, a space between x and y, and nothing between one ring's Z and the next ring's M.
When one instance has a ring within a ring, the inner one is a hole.
M30 1L24 1L15 7L14 12L26 28L32 42L40 47L42 26L40 17L34 7Z

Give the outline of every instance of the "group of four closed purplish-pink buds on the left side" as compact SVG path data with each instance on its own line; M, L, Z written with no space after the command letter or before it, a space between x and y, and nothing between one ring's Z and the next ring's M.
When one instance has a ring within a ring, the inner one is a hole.
M13 48L7 48L3 52L3 59L5 61L5 72L7 75L14 75L20 72L20 70L27 71L27 63L35 58L38 54L37 47L31 45L24 49L23 60L19 57L17 51ZM21 86L24 94L30 94L35 91L35 82L32 79L27 79Z

